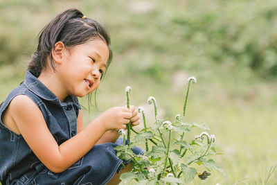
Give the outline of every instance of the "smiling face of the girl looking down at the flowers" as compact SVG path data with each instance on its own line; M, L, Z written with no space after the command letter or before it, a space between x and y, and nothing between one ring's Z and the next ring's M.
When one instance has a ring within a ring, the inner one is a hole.
M83 97L100 85L109 49L102 39L93 39L64 51L59 76L66 94Z

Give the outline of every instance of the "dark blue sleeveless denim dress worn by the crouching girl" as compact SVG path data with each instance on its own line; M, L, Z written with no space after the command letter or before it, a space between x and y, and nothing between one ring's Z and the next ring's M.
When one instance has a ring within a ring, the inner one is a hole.
M23 83L8 95L0 107L0 118L12 98L24 94L32 99L41 110L51 134L60 145L77 134L78 98L68 96L60 101L30 71ZM24 109L24 107L22 107ZM32 115L30 115L32 116ZM34 131L35 132L35 131ZM116 157L114 147L123 143L102 143L93 146L79 161L62 173L53 173L37 159L24 138L3 125L0 119L0 182L2 184L106 184L116 171L122 168L122 161ZM143 154L139 147L132 148L136 154Z

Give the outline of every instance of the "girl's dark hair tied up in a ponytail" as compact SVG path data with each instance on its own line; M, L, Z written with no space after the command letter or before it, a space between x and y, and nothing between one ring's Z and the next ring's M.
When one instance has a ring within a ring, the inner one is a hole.
M105 28L97 21L85 17L79 10L66 10L52 19L39 33L37 51L32 55L28 70L35 77L38 77L42 70L46 68L48 57L51 67L55 69L51 51L55 49L56 42L61 41L64 46L71 47L96 38L100 38L107 43L109 48L107 67L109 67L112 58L109 47L111 41Z

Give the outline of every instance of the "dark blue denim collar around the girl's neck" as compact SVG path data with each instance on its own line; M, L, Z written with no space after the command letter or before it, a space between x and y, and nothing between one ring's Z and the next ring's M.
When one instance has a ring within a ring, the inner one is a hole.
M26 72L26 78L24 80L24 85L33 92L33 94L39 96L40 98L47 100L58 107L66 107L67 105L76 105L81 109L78 103L78 98L76 96L67 96L62 102L53 92L48 89L39 79L33 76L30 71Z

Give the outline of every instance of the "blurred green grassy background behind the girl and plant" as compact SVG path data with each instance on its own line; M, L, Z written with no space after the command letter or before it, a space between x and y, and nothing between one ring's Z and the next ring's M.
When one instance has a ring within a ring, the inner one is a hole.
M214 159L228 177L212 172L191 184L265 182L277 165L277 1L0 0L1 101L24 80L39 31L67 8L104 24L114 52L97 91L98 109L84 111L87 123L125 105L127 85L148 123L154 121L149 96L157 99L158 117L174 119L187 78L195 76L186 121L208 124L223 153ZM89 107L87 98L80 102ZM268 184L277 184L277 170Z

